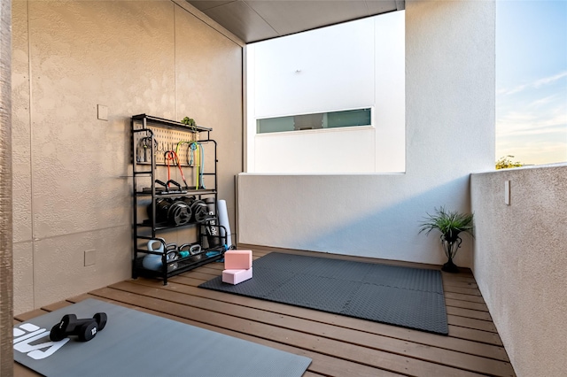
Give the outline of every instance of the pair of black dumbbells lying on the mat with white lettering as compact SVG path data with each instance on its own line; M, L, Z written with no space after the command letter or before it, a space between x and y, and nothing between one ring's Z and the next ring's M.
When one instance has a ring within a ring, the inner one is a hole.
M74 314L66 314L57 325L51 328L50 340L58 342L69 335L76 335L80 341L89 342L98 331L105 328L107 319L104 312L97 313L89 319L77 319Z

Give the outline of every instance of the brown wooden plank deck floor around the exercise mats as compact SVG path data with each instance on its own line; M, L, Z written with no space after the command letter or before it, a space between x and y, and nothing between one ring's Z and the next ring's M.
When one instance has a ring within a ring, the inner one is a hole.
M239 249L252 249L254 258L275 250L251 245L240 245ZM309 255L296 250L275 251ZM307 356L313 362L305 376L515 375L470 272L443 273L449 323L449 335L443 336L198 289L203 281L220 275L222 266L212 263L198 267L175 276L167 286L147 279L122 281L27 312L15 321L92 297ZM35 375L17 363L14 373Z

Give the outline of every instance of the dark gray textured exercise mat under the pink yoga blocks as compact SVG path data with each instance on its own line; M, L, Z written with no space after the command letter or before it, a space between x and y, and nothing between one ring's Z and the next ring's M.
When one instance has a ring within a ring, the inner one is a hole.
M231 285L219 276L199 287L448 334L438 270L276 252L252 266L251 280Z

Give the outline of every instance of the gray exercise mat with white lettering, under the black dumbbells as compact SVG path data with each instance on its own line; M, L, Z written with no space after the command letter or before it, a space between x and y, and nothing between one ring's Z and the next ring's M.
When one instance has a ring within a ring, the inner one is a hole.
M105 312L105 328L89 342L50 342L65 314ZM47 376L301 376L310 358L203 328L88 299L14 328L14 360Z

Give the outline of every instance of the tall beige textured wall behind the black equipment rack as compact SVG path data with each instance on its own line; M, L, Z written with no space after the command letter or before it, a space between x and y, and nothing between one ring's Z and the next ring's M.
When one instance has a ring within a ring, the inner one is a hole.
M242 47L183 3L12 2L15 313L130 276L131 115L214 128L234 219Z

